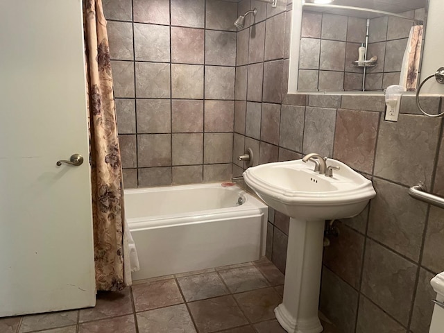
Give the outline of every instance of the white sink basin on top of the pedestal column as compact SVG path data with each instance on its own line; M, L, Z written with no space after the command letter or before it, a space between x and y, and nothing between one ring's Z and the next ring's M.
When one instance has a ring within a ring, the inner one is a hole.
M290 217L311 221L359 214L376 195L372 182L342 162L326 162L340 168L332 177L315 173L314 162L295 160L248 168L244 180L267 205Z

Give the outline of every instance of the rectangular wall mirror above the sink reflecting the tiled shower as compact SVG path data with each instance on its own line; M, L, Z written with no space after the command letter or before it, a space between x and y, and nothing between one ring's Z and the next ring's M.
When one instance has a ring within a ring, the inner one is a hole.
M297 92L382 92L398 84L416 90L428 0L302 2L293 3L302 9L302 24L292 29Z

